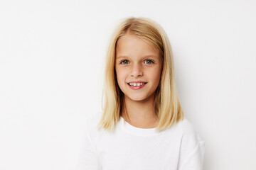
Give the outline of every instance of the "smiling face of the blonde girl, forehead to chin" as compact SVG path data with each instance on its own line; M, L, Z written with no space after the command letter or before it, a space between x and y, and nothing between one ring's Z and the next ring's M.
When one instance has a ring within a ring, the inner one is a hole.
M129 34L119 38L115 70L124 100L154 100L161 69L160 52L150 42Z

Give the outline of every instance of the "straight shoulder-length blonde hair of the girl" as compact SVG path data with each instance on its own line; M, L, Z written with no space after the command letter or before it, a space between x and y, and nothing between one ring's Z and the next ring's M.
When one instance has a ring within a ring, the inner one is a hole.
M105 63L102 117L97 128L103 126L106 130L112 131L119 121L122 111L126 111L124 108L124 94L117 84L114 64L117 40L127 32L151 42L160 51L161 57L163 57L161 79L154 96L154 111L158 118L156 130L166 130L179 120L183 120L183 110L178 99L174 79L174 59L169 38L164 29L155 21L143 17L124 18L112 34Z

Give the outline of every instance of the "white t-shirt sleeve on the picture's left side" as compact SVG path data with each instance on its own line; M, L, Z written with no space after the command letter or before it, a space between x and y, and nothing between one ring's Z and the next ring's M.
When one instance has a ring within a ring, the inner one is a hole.
M82 148L78 157L76 170L101 170L100 159L97 150L92 143L87 127L82 140Z

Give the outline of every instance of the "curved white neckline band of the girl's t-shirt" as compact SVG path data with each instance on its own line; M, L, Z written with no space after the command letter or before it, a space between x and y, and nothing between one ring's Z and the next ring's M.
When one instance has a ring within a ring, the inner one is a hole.
M126 120L124 120L124 118L122 118L122 116L120 116L120 121L121 121L122 127L128 130L129 132L132 132L133 134L151 135L151 134L157 133L156 128L137 128L133 125L130 125L129 123L127 123Z

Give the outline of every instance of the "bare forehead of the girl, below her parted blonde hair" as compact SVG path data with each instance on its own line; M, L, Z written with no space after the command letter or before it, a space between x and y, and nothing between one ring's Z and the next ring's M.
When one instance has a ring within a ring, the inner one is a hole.
M159 50L149 40L145 40L136 35L126 34L117 40L117 57L122 55L156 55Z

